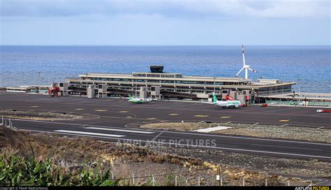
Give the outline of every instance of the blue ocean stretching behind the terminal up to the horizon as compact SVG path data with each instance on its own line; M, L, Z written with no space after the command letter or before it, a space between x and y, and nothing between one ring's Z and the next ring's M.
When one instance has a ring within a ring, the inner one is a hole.
M298 82L301 92L331 93L331 46L245 46L249 78ZM0 46L0 87L48 85L81 73L165 72L234 77L242 68L234 46ZM38 72L41 72L39 78ZM244 77L244 71L240 74ZM298 85L294 87L298 91Z

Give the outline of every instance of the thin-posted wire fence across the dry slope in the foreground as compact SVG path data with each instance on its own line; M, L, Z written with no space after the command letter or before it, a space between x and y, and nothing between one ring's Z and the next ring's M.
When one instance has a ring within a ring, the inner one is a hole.
M111 172L112 173L112 172ZM186 174L186 175L184 175ZM238 186L238 187L274 187L274 186L315 186L315 185L325 185L324 183L327 182L316 182L313 183L312 180L303 181L291 181L291 180L283 180L281 182L273 180L271 177L265 177L263 179L247 179L245 177L240 177L235 180L230 179L229 177L225 177L222 175L214 175L207 178L203 178L201 176L193 176L188 177L190 175L189 172L179 172L179 173L164 173L159 175L146 175L146 176L137 176L135 177L134 173L131 174L131 177L122 177L116 178L115 174L112 173L112 178L109 179L115 183L117 186L167 186L167 187L184 187L184 186L196 186L196 187L207 187L207 186L219 186L219 187L228 187L228 186ZM191 180L188 180L191 178ZM193 179L192 179L193 178ZM50 183L52 185L52 183ZM71 185L79 185L82 184L71 184ZM99 184L94 184L98 186ZM11 187L11 186L22 186L22 187L29 187L29 186L36 186L34 183L17 183L17 184L10 184L0 182L1 187Z

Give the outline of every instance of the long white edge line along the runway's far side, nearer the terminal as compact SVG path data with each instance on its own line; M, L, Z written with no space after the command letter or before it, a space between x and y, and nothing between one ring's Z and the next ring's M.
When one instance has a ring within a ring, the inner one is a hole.
M8 118L3 118L3 119L8 119ZM73 126L83 126L84 125L84 124L71 124L71 123L63 123L63 122L35 121L35 120L27 120L27 119L12 119L12 120L13 121L23 121L23 122L45 123L45 124L63 124L63 125L73 125ZM121 127L115 127L115 126L98 126L98 125L89 125L89 126L108 127L108 128L112 128L112 129L122 129ZM26 129L21 129L21 130L29 131ZM146 131L146 130L142 130L142 131ZM149 131L159 132L157 130L149 130ZM212 136L212 137L221 137L221 138L240 138L240 139L249 139L249 140L265 140L265 141L275 141L275 142L291 142L291 143L300 143L300 144L331 146L331 144L328 144L328 143L304 142L304 141L295 141L295 140L277 140L277 139L251 138L251 137L241 137L241 136L223 136L223 135L188 133L188 132L179 132L179 131L167 131L167 133L177 133L177 134L184 134L184 135L190 135L190 136L191 135L193 135L193 136Z

